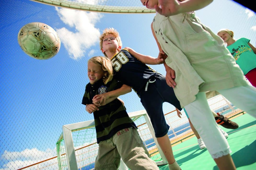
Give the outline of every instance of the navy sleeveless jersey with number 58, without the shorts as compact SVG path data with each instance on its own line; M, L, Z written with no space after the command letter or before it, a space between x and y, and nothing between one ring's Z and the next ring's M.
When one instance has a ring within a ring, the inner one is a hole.
M133 88L136 93L156 74L154 69L142 63L126 49L113 56L111 63L115 78Z

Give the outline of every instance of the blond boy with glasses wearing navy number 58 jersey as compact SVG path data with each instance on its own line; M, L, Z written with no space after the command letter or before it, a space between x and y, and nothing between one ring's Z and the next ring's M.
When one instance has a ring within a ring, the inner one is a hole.
M163 51L157 58L135 52L129 47L122 48L119 33L114 28L106 28L100 35L102 53L111 60L114 76L117 80L132 87L141 99L141 103L151 119L155 137L169 164L175 162L172 146L168 137L167 125L163 113L163 103L168 102L182 110L172 87L166 83L165 76L146 64L162 64L166 58ZM100 98L100 96L99 96ZM95 100L97 101L97 97Z

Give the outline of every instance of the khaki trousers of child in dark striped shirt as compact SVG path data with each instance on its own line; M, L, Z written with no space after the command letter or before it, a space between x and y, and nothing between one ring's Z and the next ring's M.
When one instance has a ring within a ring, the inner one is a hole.
M135 128L122 129L110 139L101 141L94 169L117 169L121 158L131 170L159 169L156 163L150 159L150 155Z

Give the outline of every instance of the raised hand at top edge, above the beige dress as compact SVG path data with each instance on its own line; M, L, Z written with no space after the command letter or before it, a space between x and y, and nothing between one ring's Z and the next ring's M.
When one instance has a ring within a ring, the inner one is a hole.
M161 5L159 8L155 5L156 12L164 16L172 16L179 14L179 2L177 0L158 0Z

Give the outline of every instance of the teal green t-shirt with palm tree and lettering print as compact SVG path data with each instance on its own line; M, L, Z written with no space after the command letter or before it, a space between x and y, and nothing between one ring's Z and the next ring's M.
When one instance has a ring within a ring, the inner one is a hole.
M233 44L227 46L244 75L256 68L256 54L248 45L249 42L250 40L247 38L240 38Z

